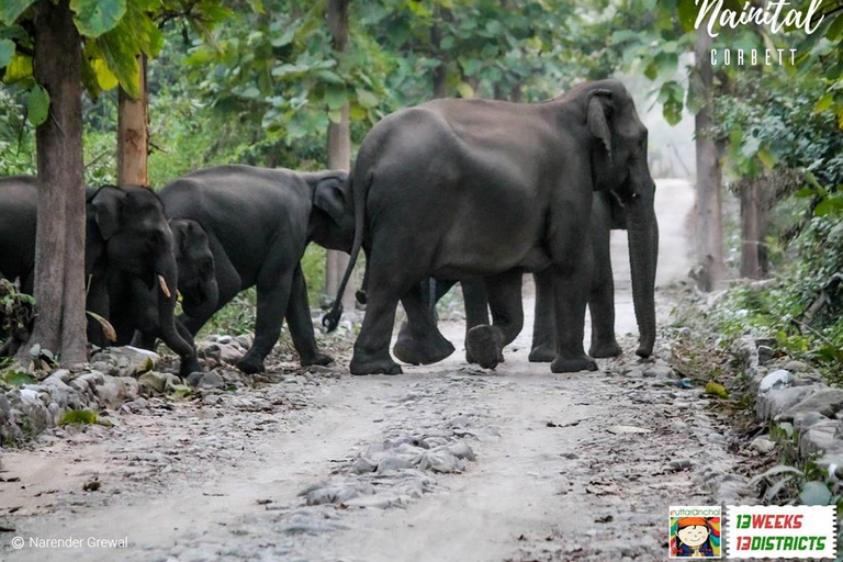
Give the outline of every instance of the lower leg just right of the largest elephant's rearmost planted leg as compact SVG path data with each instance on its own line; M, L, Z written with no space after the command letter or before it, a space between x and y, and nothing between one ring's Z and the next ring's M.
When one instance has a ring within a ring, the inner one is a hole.
M431 304L429 296L430 282L435 281L425 281L415 285L401 299L409 322L402 325L392 352L406 363L436 363L453 353L453 345L436 326L431 312L435 303Z

